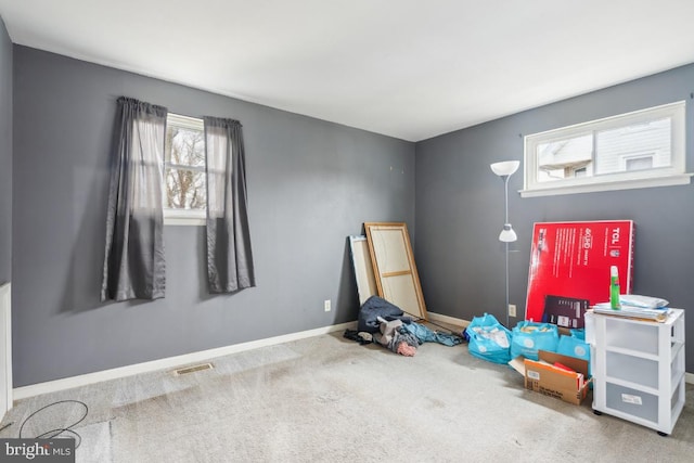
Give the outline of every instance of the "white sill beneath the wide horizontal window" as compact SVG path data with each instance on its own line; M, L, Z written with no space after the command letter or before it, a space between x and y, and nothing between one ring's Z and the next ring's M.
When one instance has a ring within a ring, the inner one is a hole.
M520 190L520 197L556 196L561 194L594 193L600 191L633 190L653 187L684 185L692 182L694 173L676 173L667 177L651 177L642 179L614 180L603 183L583 183L564 187L536 188Z

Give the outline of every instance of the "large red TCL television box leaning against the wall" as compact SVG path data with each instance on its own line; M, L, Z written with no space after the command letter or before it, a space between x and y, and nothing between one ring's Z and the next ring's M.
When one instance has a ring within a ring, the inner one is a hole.
M609 300L609 268L621 294L631 294L634 224L631 220L536 222L532 227L526 320L542 321L548 295Z

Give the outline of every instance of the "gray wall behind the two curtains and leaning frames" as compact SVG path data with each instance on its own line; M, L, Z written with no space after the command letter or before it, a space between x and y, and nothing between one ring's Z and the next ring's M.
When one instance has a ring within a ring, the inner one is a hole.
M414 231L413 143L25 47L14 73L15 387L356 320L347 235ZM256 288L208 296L204 229L166 227L166 298L99 301L120 95L242 121Z

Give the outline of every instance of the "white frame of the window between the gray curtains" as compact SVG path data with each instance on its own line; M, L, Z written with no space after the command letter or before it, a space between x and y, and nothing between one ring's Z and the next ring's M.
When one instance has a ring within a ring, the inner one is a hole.
M169 125L185 128L189 130L200 130L203 133L203 143L205 143L205 123L202 118L183 116L181 114L168 113L166 117L166 132L168 133ZM166 207L166 173L168 168L184 168L189 170L202 171L205 173L205 167L188 166L171 164L169 160L170 152L166 144L164 146L164 179L162 182L162 208L164 211L165 226L204 226L207 220L207 209L174 209ZM207 189L207 178L205 178L205 189Z

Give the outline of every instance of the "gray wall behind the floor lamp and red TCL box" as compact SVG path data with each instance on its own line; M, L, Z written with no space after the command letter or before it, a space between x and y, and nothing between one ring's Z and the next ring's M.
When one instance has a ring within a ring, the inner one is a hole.
M503 183L497 160L523 162L523 136L686 100L686 163L694 168L694 65L515 114L416 144L415 255L428 310L505 321ZM503 95L499 95L503 98ZM511 177L510 303L525 313L532 223L632 219L633 293L694 308L694 185L520 198L523 171ZM605 294L607 297L607 294ZM515 321L511 319L511 324ZM694 372L694 317L686 319L686 370Z

